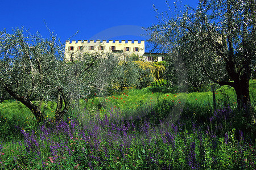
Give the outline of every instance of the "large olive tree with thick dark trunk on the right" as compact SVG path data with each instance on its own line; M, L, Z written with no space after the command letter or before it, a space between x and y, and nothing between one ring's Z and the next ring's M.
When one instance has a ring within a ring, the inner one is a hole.
M233 87L238 108L249 109L256 54L255 1L200 0L196 8L168 7L169 12L158 15L159 23L148 28L149 41L180 58L188 70L197 70L194 75L188 71L189 76ZM252 112L246 116L254 117Z

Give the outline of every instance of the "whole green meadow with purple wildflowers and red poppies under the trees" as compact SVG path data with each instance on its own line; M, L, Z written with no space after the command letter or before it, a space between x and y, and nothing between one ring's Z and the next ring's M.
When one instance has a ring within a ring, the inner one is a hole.
M216 111L210 92L94 94L62 121L48 104L43 123L4 101L0 169L255 169L255 126L222 91Z

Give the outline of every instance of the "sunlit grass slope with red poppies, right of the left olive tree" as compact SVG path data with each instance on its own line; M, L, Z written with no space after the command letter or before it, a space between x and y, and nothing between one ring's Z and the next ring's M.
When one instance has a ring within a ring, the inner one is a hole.
M253 107L256 107L256 80L250 80L250 97ZM175 103L189 102L195 105L213 105L212 92L193 92L193 93L159 93L152 92L150 88L143 88L142 90L130 90L122 94L116 94L105 97L94 97L87 99L84 102L87 108L93 108L93 111L104 111L105 109L120 108L120 109L134 109L143 104L156 104L160 100L174 100ZM232 108L236 108L236 93L234 88L229 86L219 87L216 92L217 107L222 105L229 105Z

